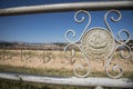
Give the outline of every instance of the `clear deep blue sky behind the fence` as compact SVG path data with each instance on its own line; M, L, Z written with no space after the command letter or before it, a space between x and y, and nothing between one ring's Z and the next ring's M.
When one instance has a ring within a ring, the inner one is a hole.
M61 2L78 2L88 0L0 0L0 9L33 4L50 4ZM116 38L119 30L126 29L131 32L133 39L133 11L120 10L122 19L119 22L112 22L110 17L117 18L115 13L111 13L108 21L113 29ZM89 11L91 13L91 24L89 29L94 27L105 28L104 14L106 11ZM54 13L35 13L22 16L0 17L0 41L21 41L21 42L66 42L64 33L68 29L73 29L79 39L88 22L76 23L74 21L75 11L54 12ZM81 14L82 16L82 14ZM86 17L85 14L83 14ZM80 16L79 16L80 18ZM126 36L123 34L125 39Z

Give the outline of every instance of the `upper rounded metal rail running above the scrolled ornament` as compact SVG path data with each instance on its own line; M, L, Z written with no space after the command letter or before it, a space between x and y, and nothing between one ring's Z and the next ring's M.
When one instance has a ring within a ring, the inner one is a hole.
M73 2L57 3L0 9L0 16L16 16L29 13L44 13L59 11L84 10L110 10L110 9L127 9L133 10L133 1L99 1L99 2Z

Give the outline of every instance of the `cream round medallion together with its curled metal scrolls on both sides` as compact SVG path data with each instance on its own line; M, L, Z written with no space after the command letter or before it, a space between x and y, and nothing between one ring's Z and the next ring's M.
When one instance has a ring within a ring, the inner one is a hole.
M82 70L85 69L84 65L80 63L80 65L76 65L74 67L74 75L76 77L88 77L89 76L90 68L91 68L91 66L89 63L90 59L108 60L108 62L105 65L106 75L110 78L122 77L123 69L122 69L121 66L114 65L113 68L111 68L113 70L113 72L115 72L115 70L116 70L115 76L110 73L109 68L110 68L110 63L113 59L113 56L119 48L124 47L124 49L129 51L129 55L124 56L123 51L121 50L120 51L120 57L122 57L122 58L130 58L131 57L131 48L126 44L131 40L131 34L127 30L123 29L123 30L119 31L119 34L117 34L119 40L114 37L113 30L111 29L111 26L108 22L108 16L111 12L115 12L119 16L117 19L114 19L114 17L111 17L111 20L113 22L120 21L121 18L122 18L122 14L119 10L108 11L104 16L104 22L106 24L106 29L101 28L101 27L94 27L94 28L88 29L89 24L91 22L91 14L88 11L84 11L84 10L80 10L80 11L75 12L75 16L74 16L75 22L81 23L85 20L85 17L81 17L81 19L78 19L78 16L80 13L86 13L88 17L89 17L86 27L84 28L83 32L81 33L81 36L79 37L78 40L72 41L72 40L69 39L69 33L72 33L72 38L74 38L76 36L75 31L72 30L72 29L66 30L66 32L64 34L65 40L69 42L69 44L64 48L64 52L66 55L68 55L68 50L71 50L71 52L72 52L68 57L74 57L75 50L74 49L69 49L69 48L71 46L76 46L80 49L80 51L81 51L81 53L82 53L82 56L83 56L83 58L84 58L84 60L88 65L88 71L86 71L85 75L80 75L80 73L78 73L78 70L76 70L79 68L81 68ZM121 38L122 33L125 33L127 36L127 39L124 40L124 41Z

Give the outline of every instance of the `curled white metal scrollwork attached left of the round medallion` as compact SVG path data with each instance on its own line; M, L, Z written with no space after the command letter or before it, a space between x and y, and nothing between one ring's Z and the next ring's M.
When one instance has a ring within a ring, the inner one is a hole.
M71 44L76 46L76 47L82 51L81 44L78 44L76 42L79 42L79 41L81 40L83 33L86 31L86 29L88 29L88 27L89 27L89 24L90 24L90 22L91 22L91 14L90 14L88 11L85 11L85 10L76 11L76 12L75 12L75 16L74 16L74 20L75 20L75 22L78 22L78 23L82 23L82 22L85 20L85 17L81 17L81 19L78 19L78 16L79 16L80 13L85 13L85 14L88 14L88 18L89 18L89 19L88 19L88 23L86 23L86 26L85 26L82 34L80 36L80 38L79 38L78 40L75 40L75 41L71 41L71 40L68 38L69 33L72 33L72 37L73 37L73 38L76 36L76 33L75 33L74 30L69 29L69 30L65 32L65 36L64 36L64 37L65 37L65 40L66 40L68 42L70 42L70 43L64 48L64 52L65 52L65 53L66 53L68 48L69 48ZM69 56L69 57L73 57L73 56L74 56L74 51L75 51L75 50L72 49L72 53L71 53L71 56ZM85 61L86 61L88 71L86 71L85 75L80 75L80 73L78 73L78 69L83 70L83 69L85 69L85 67L84 67L83 65L81 65L81 63L80 63L80 65L76 65L76 66L74 67L74 75L78 76L78 77L86 77L86 76L89 76L89 72L90 72L89 59L85 57L84 52L82 52L82 56L84 57L84 59L85 59Z

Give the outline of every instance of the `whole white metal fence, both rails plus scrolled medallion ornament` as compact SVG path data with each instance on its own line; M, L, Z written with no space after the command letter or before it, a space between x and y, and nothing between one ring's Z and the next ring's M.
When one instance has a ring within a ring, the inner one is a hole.
M117 9L117 10L114 10ZM44 4L44 6L31 6L31 7L17 7L17 8L8 8L0 9L0 16L16 16L16 14L28 14L28 13L45 13L45 12L62 12L62 11L75 11L74 20L76 22L83 22L85 18L82 17L79 20L76 17L79 13L86 13L89 17L89 21L86 23L85 29L81 33L81 37L76 41L71 41L68 38L68 34L71 32L73 37L75 36L74 30L68 30L64 34L65 40L69 42L65 47L63 47L64 52L66 53L69 47L75 46L79 48L83 56L83 60L86 63L86 73L80 75L78 73L78 68L84 69L83 65L76 65L73 69L75 77L49 77L49 76L37 76L37 75L25 75L25 73L11 73L11 72L0 72L0 78L3 79L12 79L12 80L23 80L31 82L42 82L42 83L53 83L53 85L71 85L71 86L88 86L88 87L120 87L120 88L133 88L133 79L132 78L121 78L123 76L123 69L115 65L112 67L112 70L115 71L117 69L117 75L113 76L109 71L109 66L113 60L114 52L124 47L129 55L124 56L123 52L120 53L122 58L132 57L131 47L127 46L127 42L131 40L131 33L127 30L120 30L121 32L126 33L127 40L120 41L116 40L113 36L113 31L110 27L110 23L106 20L106 17L110 12L115 12L119 14L117 19L111 18L112 21L119 21L122 16L119 10L133 10L133 1L103 1L103 2L75 2L75 3L58 3L58 4ZM88 31L88 27L91 22L91 14L86 10L109 10L104 16L104 22L106 24L106 29L102 27L94 27ZM99 38L96 38L99 37ZM89 39L92 38L92 39ZM104 39L104 38L108 38ZM121 37L120 37L121 38ZM95 41L96 40L96 41ZM29 49L32 47L29 47ZM40 47L38 47L39 49ZM11 49L11 48L7 48ZM24 48L21 47L21 60L22 60L22 50ZM43 48L40 48L40 50ZM60 48L62 50L62 48ZM71 56L74 57L75 50L72 50ZM43 50L42 50L43 51ZM2 50L2 57L4 59L6 50ZM44 57L44 53L43 53ZM108 59L105 63L105 72L109 78L90 78L88 77L90 73L90 61L89 59ZM86 78L88 77L88 78Z

